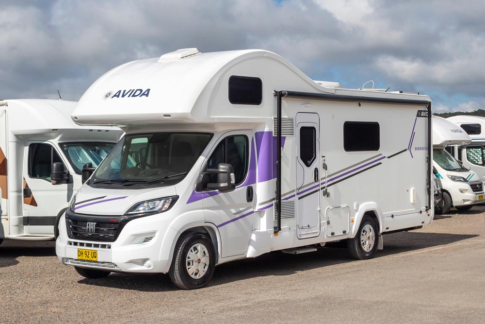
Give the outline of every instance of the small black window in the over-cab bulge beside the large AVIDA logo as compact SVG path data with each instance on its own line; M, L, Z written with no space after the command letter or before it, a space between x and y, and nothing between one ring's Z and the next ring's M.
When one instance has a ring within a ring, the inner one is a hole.
M261 79L232 75L229 78L229 102L237 104L260 104L263 100Z

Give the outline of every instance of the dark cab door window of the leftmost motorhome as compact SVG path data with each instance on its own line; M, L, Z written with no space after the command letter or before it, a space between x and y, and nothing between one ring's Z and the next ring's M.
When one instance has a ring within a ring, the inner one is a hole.
M50 144L36 143L29 146L29 176L50 182L52 163L62 162L61 157Z

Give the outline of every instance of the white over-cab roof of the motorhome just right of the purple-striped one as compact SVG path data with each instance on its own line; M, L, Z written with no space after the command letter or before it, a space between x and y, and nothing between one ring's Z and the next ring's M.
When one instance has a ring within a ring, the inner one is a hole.
M465 145L471 142L470 136L453 122L433 116L433 146Z

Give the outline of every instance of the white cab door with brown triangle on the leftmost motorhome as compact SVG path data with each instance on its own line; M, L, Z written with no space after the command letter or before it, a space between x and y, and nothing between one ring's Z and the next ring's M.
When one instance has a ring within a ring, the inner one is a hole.
M72 190L68 190L68 186L72 184L52 185L50 173L53 162L63 162L66 166L51 143L27 143L23 180L24 226L29 226L30 234L53 235L57 214L69 204L68 192ZM25 189L30 189L30 195Z

